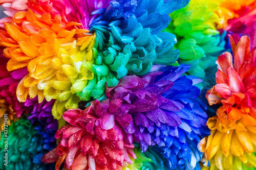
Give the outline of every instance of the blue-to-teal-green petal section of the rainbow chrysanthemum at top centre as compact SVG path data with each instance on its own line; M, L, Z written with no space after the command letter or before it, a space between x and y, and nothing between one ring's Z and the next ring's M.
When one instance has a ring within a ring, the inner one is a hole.
M90 100L89 94L100 99L105 82L113 87L117 79L127 74L145 75L153 64L175 62L179 56L179 50L173 50L176 37L159 32L170 22L167 14L186 4L187 1L111 1L102 19L95 19L90 28L97 34L98 54L93 66L97 77L78 92L80 99Z

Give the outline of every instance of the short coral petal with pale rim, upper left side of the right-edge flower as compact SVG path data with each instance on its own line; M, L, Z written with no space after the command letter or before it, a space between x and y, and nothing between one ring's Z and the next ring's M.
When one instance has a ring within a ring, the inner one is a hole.
M233 68L232 55L228 52L223 53L218 57L216 64L218 65L218 69L227 74L227 69L229 67Z

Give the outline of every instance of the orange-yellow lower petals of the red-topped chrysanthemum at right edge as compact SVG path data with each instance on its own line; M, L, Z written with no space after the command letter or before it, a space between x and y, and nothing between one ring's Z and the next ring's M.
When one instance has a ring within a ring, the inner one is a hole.
M236 123L222 122L217 116L209 118L210 136L201 140L199 149L203 161L210 167L202 169L247 169L256 167L256 121L249 114L242 114ZM247 167L246 167L247 166ZM242 168L243 167L243 168Z

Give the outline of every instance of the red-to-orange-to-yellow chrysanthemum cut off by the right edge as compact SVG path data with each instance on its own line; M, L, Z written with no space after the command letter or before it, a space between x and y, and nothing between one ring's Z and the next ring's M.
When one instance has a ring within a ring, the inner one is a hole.
M217 169L256 167L255 48L247 36L230 36L230 53L218 57L217 84L208 90L210 105L222 104L208 120L210 136L201 140L206 165ZM242 165L244 164L244 165Z

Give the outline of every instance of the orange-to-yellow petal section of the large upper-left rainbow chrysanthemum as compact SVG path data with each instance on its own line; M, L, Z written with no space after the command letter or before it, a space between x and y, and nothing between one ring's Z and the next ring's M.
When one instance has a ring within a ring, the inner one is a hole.
M77 108L76 92L93 79L92 47L95 34L77 29L79 23L64 22L59 15L51 18L32 10L17 12L6 31L0 31L0 45L6 46L4 55L10 58L9 71L27 67L29 74L17 87L17 98L25 102L27 95L38 101L57 99L53 108L56 118L63 110Z

